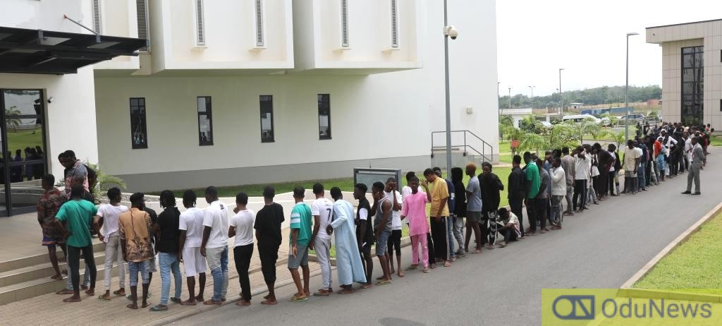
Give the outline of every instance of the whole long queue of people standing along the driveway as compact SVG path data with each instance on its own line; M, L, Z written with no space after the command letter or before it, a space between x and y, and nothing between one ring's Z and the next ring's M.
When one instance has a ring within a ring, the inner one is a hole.
M503 248L510 241L546 233L549 228L561 230L564 216L583 213L589 204L599 204L609 196L645 191L648 186L658 185L665 178L684 171L688 171L689 176L687 191L683 193L692 193L692 182L696 182L692 194L700 194L699 173L706 163L710 130L663 124L643 132L644 135L627 142L621 157L613 144L604 149L599 143L580 145L571 151L568 147L547 151L543 158L523 153L526 163L523 168L522 157L515 155L507 183L510 209L499 207L505 186L492 172L492 165L486 162L482 163L482 172L478 176L477 166L469 163L464 170L452 168L451 179L443 179L440 168L427 168L422 179L409 172L406 186L400 190L399 182L393 178L386 183L375 182L370 189L373 204L366 197L367 185L356 184L353 192L356 209L344 200L338 187L330 189L329 200L323 184L315 184L312 190L316 199L312 205L305 203L305 189L296 187L293 190L295 205L289 215L287 268L297 291L289 301L308 301L311 296L309 250L315 251L323 278L322 288L313 296L329 296L334 292L330 262L332 236L336 247L337 283L341 287L338 293L348 294L355 291L353 283L360 283L360 288L386 286L392 283L393 274L404 277L404 272L418 269L430 273L437 264L450 267L469 252L479 254L484 246L486 249ZM261 273L269 291L261 304L277 304L274 286L285 214L282 205L274 202L272 186L264 189L264 207L257 213L248 209L248 195L239 193L232 218L228 218L229 207L219 200L213 186L205 190L209 207L204 209L196 207L196 194L191 190L183 193L186 208L183 212L175 207L175 195L170 190L160 194L163 209L160 214L145 205L142 193L131 195L131 207L128 208L121 205L118 188L108 190L110 203L96 207L89 192L92 170L77 160L71 151L61 154L58 159L66 167L65 191L53 186L55 178L52 175L43 176L45 193L38 203L38 221L43 228L43 245L48 246L56 270L53 278L62 278L56 246L61 246L68 259L68 286L58 294L72 296L64 301L80 301L80 289L95 296L97 270L91 235L95 231L106 244L105 293L98 296L100 300L110 301L113 295L126 296L131 300L128 308L138 309L139 299L141 307L149 306L149 283L152 274L160 269L160 304L151 307L151 311L168 310L168 301L183 306L197 302L222 304L228 288L228 240L234 238L232 250L241 288L241 299L236 304L250 305L248 269L255 238ZM622 192L617 176L620 171L625 172ZM469 176L466 185L464 174ZM522 219L524 205L529 226L526 229ZM412 242L412 265L402 270L401 230L404 223L408 224ZM470 251L472 233L474 249ZM81 255L86 263L82 284L79 282ZM393 263L394 255L396 264ZM378 258L382 270L375 283L373 256ZM181 300L181 262L188 286L185 301ZM120 288L111 294L110 274L114 263L118 265ZM126 264L129 295L125 291ZM212 297L207 300L204 299L206 270L210 270L213 279ZM172 297L171 275L175 284Z

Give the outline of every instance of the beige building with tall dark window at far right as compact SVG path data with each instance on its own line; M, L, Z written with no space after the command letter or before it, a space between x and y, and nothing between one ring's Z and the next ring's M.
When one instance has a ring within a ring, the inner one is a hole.
M722 20L647 28L662 48L662 119L722 127Z

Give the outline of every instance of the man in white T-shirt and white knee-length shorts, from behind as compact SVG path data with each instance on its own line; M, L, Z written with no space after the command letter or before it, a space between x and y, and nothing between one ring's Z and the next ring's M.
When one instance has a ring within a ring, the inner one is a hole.
M196 301L203 302L203 290L206 288L206 259L201 255L201 242L203 241L203 218L206 213L196 207L196 193L186 190L183 193L183 206L186 210L178 219L178 239L181 253L179 260L183 262L186 270L186 283L188 284L188 300L181 302L183 306L195 306ZM199 290L196 296L196 275L198 275Z

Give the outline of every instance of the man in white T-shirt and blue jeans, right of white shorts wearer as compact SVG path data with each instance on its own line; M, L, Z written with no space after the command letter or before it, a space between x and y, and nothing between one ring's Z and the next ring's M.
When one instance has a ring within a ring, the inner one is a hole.
M222 304L228 290L228 208L218 200L218 189L206 188L206 208L203 218L201 254L206 257L213 276L213 298L203 304Z

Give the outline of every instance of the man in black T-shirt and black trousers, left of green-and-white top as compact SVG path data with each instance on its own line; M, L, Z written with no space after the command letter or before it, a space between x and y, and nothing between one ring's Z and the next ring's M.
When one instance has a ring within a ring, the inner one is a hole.
M264 202L266 205L256 213L256 241L258 242L258 258L261 259L261 273L269 288L269 294L264 296L261 304L277 304L274 286L276 283L276 261L278 248L281 246L281 223L284 221L283 206L273 202L276 190L272 186L264 189Z

